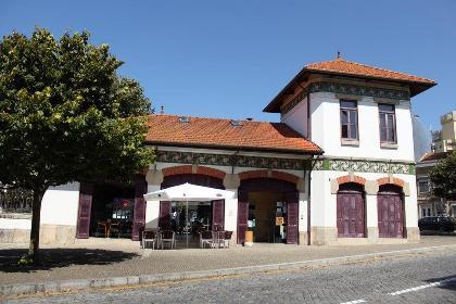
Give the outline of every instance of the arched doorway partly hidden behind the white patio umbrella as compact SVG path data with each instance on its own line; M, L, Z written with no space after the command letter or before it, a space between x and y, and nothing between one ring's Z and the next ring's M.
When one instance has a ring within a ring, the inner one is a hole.
M223 180L202 174L178 174L165 176L161 188L182 185L185 182L225 189ZM192 235L198 238L201 230L223 230L225 226L225 200L212 202L160 202L159 227L174 230L179 235Z

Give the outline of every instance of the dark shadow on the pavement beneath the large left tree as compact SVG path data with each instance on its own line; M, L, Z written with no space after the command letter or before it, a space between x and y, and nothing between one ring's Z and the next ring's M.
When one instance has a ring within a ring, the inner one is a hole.
M110 265L140 256L131 252L101 249L41 249L40 263L18 265L18 259L26 253L25 249L0 250L0 273L34 273L71 265Z

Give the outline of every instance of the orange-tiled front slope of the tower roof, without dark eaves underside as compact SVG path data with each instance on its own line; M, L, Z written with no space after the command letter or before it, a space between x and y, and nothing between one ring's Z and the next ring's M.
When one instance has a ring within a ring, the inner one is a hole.
M335 74L342 75L352 75L352 76L362 76L362 77L372 77L379 79L387 79L387 80L400 80L400 81L407 81L407 83L422 83L429 85L435 85L434 80L413 76L405 73L394 72L390 69L384 69L380 67L369 66L356 62L346 61L342 58L311 63L307 64L304 68L307 71L315 71L315 72L330 72Z

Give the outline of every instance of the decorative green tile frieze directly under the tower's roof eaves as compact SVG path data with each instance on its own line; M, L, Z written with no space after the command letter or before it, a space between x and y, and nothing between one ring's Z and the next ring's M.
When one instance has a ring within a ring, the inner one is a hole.
M290 112L296 104L299 104L307 93L315 92L331 92L331 93L344 93L353 96L366 96L373 98L384 98L392 100L409 100L410 93L406 90L395 90L377 88L360 85L347 85L338 83L319 81L308 85L301 93L299 93L291 102L286 104L281 109L281 114L284 115Z

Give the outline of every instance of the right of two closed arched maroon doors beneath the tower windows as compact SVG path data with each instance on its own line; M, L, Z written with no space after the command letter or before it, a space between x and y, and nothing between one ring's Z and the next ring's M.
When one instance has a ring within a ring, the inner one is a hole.
M404 202L402 188L387 183L377 194L380 238L404 238Z

